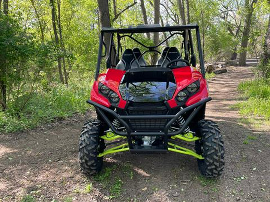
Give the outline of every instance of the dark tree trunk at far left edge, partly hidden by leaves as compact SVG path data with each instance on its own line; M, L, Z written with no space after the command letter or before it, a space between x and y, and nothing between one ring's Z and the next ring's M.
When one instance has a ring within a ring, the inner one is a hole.
M5 16L8 15L8 0L3 1L3 13ZM7 109L7 88L6 88L6 76L7 76L7 67L6 67L6 59L4 56L2 56L0 61L0 90L1 90L1 108L2 110Z

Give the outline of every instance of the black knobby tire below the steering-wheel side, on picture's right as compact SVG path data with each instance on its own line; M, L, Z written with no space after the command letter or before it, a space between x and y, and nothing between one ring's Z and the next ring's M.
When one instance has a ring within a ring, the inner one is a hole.
M205 177L218 177L224 170L224 145L220 129L214 121L201 120L198 122L198 135L201 140L195 142L197 154L204 159L198 159L199 170Z

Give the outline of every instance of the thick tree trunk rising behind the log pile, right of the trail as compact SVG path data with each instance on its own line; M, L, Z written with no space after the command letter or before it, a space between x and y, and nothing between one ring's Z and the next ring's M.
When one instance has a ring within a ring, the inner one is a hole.
M256 3L257 0L253 0L251 4L249 4L249 0L245 0L245 8L246 8L246 16L245 16L245 25L243 36L241 40L241 53L239 56L239 66L245 66L247 60L247 42L250 33L250 25L251 25L251 18L253 14L253 4Z

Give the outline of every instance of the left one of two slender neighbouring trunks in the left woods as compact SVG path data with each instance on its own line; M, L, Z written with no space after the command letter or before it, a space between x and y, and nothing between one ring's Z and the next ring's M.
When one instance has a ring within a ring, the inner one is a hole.
M57 34L57 29L56 29L56 23L55 23L55 4L54 0L50 0L51 8L52 8L52 27L53 27L53 33L54 33L54 38L55 38L55 48L56 50L59 49L59 39L58 39L58 34ZM58 63L58 73L59 73L59 78L62 83L64 83L64 78L63 78L63 73L62 73L62 68L61 68L61 57L57 57L57 63Z

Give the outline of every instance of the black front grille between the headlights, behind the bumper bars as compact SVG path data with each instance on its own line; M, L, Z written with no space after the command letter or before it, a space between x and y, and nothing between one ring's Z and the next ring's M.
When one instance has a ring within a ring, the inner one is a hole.
M164 102L130 103L128 106L129 115L166 115L167 112ZM130 119L128 121L132 130L136 131L160 131L167 123L167 119Z

